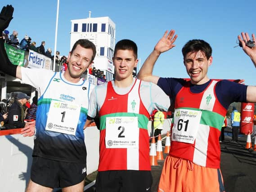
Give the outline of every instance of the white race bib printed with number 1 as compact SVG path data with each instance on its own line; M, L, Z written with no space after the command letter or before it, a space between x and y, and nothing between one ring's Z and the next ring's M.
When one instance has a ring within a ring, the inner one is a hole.
M45 130L76 134L81 106L63 101L51 101Z

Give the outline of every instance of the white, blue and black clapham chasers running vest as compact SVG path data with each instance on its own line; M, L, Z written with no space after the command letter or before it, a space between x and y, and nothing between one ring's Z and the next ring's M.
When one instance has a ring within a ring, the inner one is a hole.
M45 84L47 88L38 100L33 156L86 162L83 127L89 105L89 81L71 84L55 72Z

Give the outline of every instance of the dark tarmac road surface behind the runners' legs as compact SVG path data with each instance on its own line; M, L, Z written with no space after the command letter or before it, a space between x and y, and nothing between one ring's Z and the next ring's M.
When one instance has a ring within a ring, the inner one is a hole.
M231 143L231 130L227 128L225 131L225 141L220 143L220 167L226 192L256 192L256 153L245 149L247 136L239 135L238 143ZM253 146L254 140L252 142ZM165 141L162 143L164 147ZM158 161L158 166L152 166L152 192L157 192L163 163ZM94 192L94 188L85 192Z

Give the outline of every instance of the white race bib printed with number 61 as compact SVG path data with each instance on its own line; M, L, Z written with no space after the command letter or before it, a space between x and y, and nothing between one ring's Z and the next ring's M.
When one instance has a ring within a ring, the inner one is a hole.
M189 109L176 109L172 128L172 141L194 143L198 134L201 111Z

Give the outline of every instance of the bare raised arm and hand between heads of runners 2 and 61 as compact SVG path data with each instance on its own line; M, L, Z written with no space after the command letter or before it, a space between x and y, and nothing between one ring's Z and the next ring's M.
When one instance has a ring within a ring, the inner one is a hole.
M165 31L165 34L157 42L157 45L155 46L153 52L148 56L148 58L145 60L145 62L143 64L143 66L139 70L139 73L137 75L138 79L150 81L150 82L157 84L159 77L152 75L153 67L157 61L157 58L160 56L160 54L175 47L175 45L173 43L175 42L177 37L178 36L175 35L174 30L171 30L169 33L168 33L168 31Z

